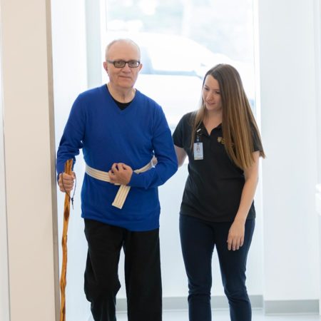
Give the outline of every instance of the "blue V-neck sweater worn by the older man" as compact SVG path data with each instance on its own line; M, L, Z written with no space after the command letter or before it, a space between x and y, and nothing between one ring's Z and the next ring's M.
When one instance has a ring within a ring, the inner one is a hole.
M73 103L57 153L57 173L83 148L86 164L108 172L113 163L142 168L155 154L158 164L145 173L133 173L131 190L120 210L111 205L119 186L85 173L81 188L81 216L128 230L159 227L158 186L178 168L170 129L155 101L136 91L123 111L106 85L81 93Z

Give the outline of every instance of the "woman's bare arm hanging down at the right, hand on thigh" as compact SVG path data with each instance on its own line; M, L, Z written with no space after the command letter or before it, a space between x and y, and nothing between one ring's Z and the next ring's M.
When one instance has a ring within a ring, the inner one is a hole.
M253 153L254 163L244 170L245 184L243 187L240 206L236 213L233 224L228 233L228 250L238 250L244 242L245 221L253 202L256 186L258 185L258 168L260 152Z

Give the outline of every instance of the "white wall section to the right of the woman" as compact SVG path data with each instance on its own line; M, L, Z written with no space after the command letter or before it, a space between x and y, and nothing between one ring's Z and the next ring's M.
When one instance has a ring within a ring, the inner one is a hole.
M314 1L260 0L265 301L317 300Z

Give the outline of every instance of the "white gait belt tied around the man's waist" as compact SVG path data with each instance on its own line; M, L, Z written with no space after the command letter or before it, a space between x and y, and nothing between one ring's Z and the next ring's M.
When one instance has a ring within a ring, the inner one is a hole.
M144 167L134 170L134 172L136 174L143 173L143 172L146 172L146 170L151 169L152 167L153 167L153 162L150 161ZM89 176L96 178L97 180L103 180L104 182L111 183L111 178L109 178L108 172L103 172L103 170L96 170L95 168L91 168L86 164L86 173ZM118 184L115 184L115 185L118 185ZM125 203L125 200L127 198L127 195L130 189L131 189L131 186L121 185L111 205L115 206L116 208L120 208L120 209L123 208L123 203Z

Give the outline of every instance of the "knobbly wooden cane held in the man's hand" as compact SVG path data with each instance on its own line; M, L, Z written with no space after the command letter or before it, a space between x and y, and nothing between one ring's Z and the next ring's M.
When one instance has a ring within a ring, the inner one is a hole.
M73 160L69 159L65 164L65 173L71 175ZM61 174L62 175L62 174ZM62 178L61 178L62 179ZM63 250L61 277L60 277L60 321L66 321L66 272L67 272L67 232L70 214L70 195L66 192L65 203L63 205L63 235L61 238L61 246Z

